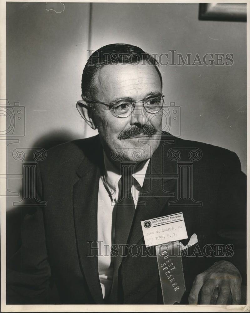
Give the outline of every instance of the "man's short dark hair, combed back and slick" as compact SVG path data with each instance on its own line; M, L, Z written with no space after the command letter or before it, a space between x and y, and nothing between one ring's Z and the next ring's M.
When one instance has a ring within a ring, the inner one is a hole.
M91 54L82 75L82 99L89 102L93 100L97 86L94 84L94 76L104 65L138 64L145 61L153 65L159 74L162 87L162 77L158 69L158 61L151 55L131 44L108 44Z

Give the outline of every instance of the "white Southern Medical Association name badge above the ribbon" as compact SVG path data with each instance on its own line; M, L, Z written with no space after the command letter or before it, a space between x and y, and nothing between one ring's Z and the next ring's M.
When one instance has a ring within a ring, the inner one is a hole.
M142 221L141 227L148 246L188 238L182 212Z

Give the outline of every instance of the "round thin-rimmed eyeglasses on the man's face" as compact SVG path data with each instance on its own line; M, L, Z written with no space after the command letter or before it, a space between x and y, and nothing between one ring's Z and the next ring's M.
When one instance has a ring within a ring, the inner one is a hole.
M133 112L133 110L135 109L135 104L137 102L142 102L142 105L144 106L145 110L148 113L154 114L159 112L164 103L163 98L164 95L155 94L148 95L145 99L138 101L134 101L130 98L124 98L117 100L115 102L100 102L94 100L90 100L90 102L113 106L115 115L120 118L125 118L128 117Z

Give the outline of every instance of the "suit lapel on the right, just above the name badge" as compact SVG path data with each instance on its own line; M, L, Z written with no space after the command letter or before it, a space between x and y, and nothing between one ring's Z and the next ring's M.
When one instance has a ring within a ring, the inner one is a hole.
M169 140L169 143L174 143L174 141ZM138 203L145 203L145 205L137 205L134 227L130 237L130 244L138 243L138 241L143 237L140 222L160 217L165 204L170 200L170 197L175 196L177 185L176 179L162 179L161 176L163 173L162 165L164 164L162 156L166 155L166 153L163 154L163 148L164 145L161 142L160 146L151 157L148 165L142 188L143 192L140 193L138 199ZM174 169L172 163L165 162L164 173L173 172ZM162 184L159 182L162 182ZM164 191L162 191L162 189Z

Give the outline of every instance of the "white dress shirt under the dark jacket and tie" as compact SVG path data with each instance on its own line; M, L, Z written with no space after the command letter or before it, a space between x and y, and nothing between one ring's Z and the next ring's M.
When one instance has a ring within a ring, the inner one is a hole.
M142 189L149 159L142 163L135 174L135 185L131 192L137 206L139 192ZM115 203L118 199L118 182L120 180L120 170L117 169L104 153L105 173L100 177L98 192L98 214L97 214L97 232L98 232L98 272L102 288L103 298L105 299L110 291L113 276L113 264L111 263L110 250L114 244L115 238Z

